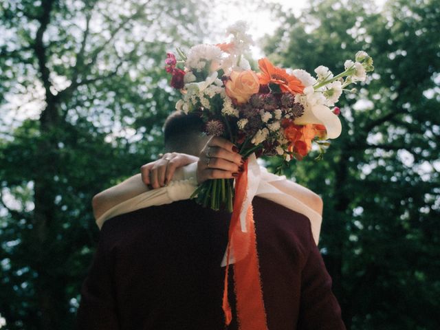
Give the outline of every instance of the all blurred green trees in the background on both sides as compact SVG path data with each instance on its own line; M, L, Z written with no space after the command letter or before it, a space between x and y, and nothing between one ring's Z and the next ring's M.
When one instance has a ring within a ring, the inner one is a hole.
M157 157L175 102L164 54L216 27L208 1L0 3L0 315L5 329L72 329L98 237L91 198ZM320 248L349 329L439 325L438 4L275 6L264 41L309 72L358 50L375 60L324 160L286 173L325 201Z

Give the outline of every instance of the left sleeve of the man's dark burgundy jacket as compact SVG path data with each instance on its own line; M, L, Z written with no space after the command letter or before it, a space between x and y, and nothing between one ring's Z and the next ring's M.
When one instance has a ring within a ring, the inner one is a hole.
M81 289L81 300L76 319L76 329L78 330L120 329L111 250L105 243L106 232L104 228L100 234L100 243L94 261Z

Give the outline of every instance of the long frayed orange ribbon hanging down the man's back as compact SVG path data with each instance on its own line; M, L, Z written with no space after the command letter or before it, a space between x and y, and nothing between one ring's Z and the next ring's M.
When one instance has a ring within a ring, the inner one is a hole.
M248 188L248 161L243 165L243 172L236 178L234 207L229 226L229 241L226 254L225 283L223 288L223 312L225 323L230 325L232 311L228 301L229 259L232 249L234 254L234 285L236 292L236 313L239 329L267 330L266 313L261 291L259 258L256 252L256 234L252 205L246 213L247 232L241 230L240 213Z

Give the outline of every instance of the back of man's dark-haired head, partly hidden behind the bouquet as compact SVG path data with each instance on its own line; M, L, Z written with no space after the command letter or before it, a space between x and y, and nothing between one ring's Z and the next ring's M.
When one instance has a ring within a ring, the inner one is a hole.
M165 151L199 155L208 140L203 126L199 113L171 113L164 124Z

